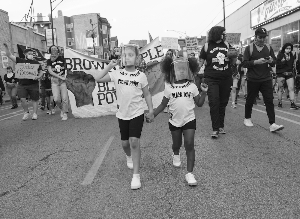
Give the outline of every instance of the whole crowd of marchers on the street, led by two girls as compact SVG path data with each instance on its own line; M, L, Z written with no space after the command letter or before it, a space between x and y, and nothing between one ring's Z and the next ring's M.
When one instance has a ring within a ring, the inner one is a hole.
M147 77L143 71L146 63L140 55L138 45L134 43L124 44L120 48L113 48L109 53L111 62L103 70L95 70L97 82L113 82L117 95L116 117L119 120L122 147L126 154L126 163L129 169L133 169L131 189L141 187L140 183L140 138L144 123L151 123L162 111L168 113L168 126L172 135L172 158L176 168L181 166L180 148L182 146L182 135L184 137L184 148L187 155L187 173L185 180L188 185L197 185L193 175L195 162L194 136L196 130L196 117L193 111L195 104L201 107L207 95L210 109L212 138L218 138L219 134L226 134L225 111L229 97L232 98L232 108L237 108L236 96L240 87L242 88L245 103L244 125L253 127L251 113L253 104L256 102L258 93L263 96L270 132L282 130L282 125L275 123L273 104L273 80L271 80L270 69L276 72L278 83L278 108L282 108L281 99L284 84L289 90L291 102L290 109L298 109L295 100L300 90L299 84L295 84L295 62L298 56L292 54L293 45L283 45L277 57L272 47L265 44L267 31L260 27L255 31L252 44L246 47L244 54L238 54L237 50L226 42L224 27L215 26L209 31L208 43L202 47L198 54L190 54L189 58L181 57L179 53L174 56L172 50L168 50L161 61L161 69L164 75L165 89L161 104L154 110L152 98L149 92ZM5 52L15 63L39 64L33 60L32 49L24 51L25 58L13 56L7 44L4 43ZM41 81L42 107L46 108L45 98L49 115L55 113L54 104L60 108L61 120L66 121L68 112L68 79L64 71L64 58L59 55L58 47L51 46L50 59L47 60L47 72L43 74L41 65L38 75L34 79L17 79L11 67L7 67L4 76L6 90L10 96L12 109L17 108L16 94L24 109L23 120L28 119L31 113L28 110L26 99L32 99L32 119L37 119L39 95L39 80ZM298 55L298 54L297 54ZM111 71L116 65L119 69ZM1 80L2 81L2 80ZM119 81L135 81L137 86L128 86L128 83ZM247 83L247 86L245 84ZM296 94L294 89L296 85ZM297 87L298 86L298 87ZM247 89L246 89L247 87ZM2 92L5 94L3 83ZM297 90L298 89L298 90ZM144 116L143 98L149 108Z

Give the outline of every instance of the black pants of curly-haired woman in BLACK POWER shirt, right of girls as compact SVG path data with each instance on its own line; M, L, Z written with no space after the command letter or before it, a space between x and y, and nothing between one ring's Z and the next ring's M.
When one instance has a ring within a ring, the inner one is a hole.
M207 97L210 109L210 117L213 131L219 131L224 127L225 108L229 100L233 79L204 78L208 85Z

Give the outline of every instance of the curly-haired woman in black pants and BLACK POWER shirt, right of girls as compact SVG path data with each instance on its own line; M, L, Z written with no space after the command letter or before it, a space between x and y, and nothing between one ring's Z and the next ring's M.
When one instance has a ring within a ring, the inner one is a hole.
M213 129L212 138L226 133L224 130L225 108L233 83L230 62L237 60L237 58L229 60L227 57L227 51L231 46L225 40L225 28L212 27L208 33L208 44L202 47L199 55L200 68L205 60L207 62L204 69L204 83L208 85L207 97Z

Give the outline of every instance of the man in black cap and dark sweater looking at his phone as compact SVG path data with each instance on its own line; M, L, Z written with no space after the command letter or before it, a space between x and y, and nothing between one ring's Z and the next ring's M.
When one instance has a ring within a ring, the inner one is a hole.
M268 36L268 34L265 28L257 28L255 30L255 38L253 43L247 46L244 52L242 66L244 68L248 68L248 96L245 104L244 124L247 127L254 127L250 118L253 102L260 91L265 101L265 107L270 123L270 132L276 132L282 130L284 126L275 124L273 86L270 78L271 73L268 66L270 65L271 67L274 67L276 60L272 47L268 44L265 44L266 36Z

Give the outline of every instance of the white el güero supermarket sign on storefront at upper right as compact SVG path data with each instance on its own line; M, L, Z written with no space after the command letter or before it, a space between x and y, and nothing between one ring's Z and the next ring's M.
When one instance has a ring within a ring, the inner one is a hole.
M300 6L300 0L267 0L251 10L251 28L284 15Z

